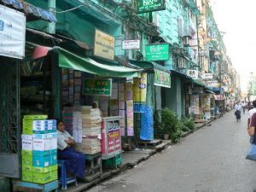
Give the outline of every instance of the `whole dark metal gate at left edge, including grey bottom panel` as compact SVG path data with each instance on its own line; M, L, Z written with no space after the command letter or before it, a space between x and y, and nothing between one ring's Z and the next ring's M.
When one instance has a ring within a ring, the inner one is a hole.
M20 62L0 64L0 175L20 177Z

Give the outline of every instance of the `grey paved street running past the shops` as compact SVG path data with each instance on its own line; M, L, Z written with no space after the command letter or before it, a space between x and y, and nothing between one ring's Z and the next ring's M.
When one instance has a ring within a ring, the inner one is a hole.
M256 163L245 160L247 117L233 112L89 192L253 192Z

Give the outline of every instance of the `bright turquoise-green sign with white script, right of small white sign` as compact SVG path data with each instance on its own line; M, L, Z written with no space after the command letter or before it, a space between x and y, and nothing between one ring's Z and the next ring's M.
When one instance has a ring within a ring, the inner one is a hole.
M169 44L148 44L146 45L147 61L166 61L169 60Z

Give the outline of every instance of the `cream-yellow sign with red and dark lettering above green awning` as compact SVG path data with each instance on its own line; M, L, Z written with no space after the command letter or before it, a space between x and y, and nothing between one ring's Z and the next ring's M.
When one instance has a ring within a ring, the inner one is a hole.
M113 60L114 57L114 38L105 32L96 29L94 55Z

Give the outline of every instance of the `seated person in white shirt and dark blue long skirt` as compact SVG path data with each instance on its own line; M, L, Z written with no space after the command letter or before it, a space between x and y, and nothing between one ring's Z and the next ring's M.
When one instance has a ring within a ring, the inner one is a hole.
M67 160L67 174L69 177L85 177L85 155L73 148L74 140L71 135L65 131L65 125L62 120L57 120L58 132L58 159Z

